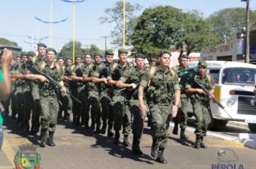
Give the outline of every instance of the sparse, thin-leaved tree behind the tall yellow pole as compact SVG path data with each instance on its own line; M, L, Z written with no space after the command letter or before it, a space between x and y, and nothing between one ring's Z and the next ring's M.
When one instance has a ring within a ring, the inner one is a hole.
M136 11L141 9L140 4L134 4L127 2L125 4L125 16L126 16L126 44L130 44L129 36L133 32L133 28L137 23L137 19L134 16ZM101 24L111 24L114 23L114 30L111 31L111 37L114 39L112 44L116 44L117 46L122 45L123 40L123 1L117 1L114 8L105 9L106 16L100 17Z

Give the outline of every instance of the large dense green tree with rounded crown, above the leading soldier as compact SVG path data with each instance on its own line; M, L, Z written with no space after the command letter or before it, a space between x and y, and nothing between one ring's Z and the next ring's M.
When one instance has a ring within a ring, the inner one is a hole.
M211 25L198 11L185 13L172 6L145 9L137 19L131 36L133 46L150 57L169 49L170 45L186 47L187 53L201 51L218 42Z

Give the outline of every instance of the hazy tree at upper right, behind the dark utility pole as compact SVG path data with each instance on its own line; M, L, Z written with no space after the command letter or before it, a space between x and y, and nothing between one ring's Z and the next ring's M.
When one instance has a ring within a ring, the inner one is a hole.
M245 15L244 8L221 9L211 14L207 20L212 24L220 42L229 42L245 27ZM256 29L256 11L250 11L250 30L252 29Z

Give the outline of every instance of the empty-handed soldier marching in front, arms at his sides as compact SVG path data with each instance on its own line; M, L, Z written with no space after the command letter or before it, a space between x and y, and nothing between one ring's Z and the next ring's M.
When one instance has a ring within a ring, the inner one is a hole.
M144 90L147 87L147 102L150 107L152 117L152 148L151 155L157 158L159 163L167 163L163 157L163 152L168 142L168 115L173 112L173 117L177 114L180 101L180 87L178 77L173 69L169 68L170 52L163 50L160 52L158 60L160 65L150 67L149 72L145 73L138 89L138 99L140 113L142 117L146 116L147 107L143 102ZM175 98L174 105L172 101Z

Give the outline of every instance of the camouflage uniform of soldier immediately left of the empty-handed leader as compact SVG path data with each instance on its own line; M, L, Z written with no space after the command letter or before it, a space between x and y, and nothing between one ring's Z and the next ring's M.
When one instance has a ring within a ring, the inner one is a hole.
M126 84L134 83L139 87L140 79L145 74L145 69L140 72L136 68L136 66L131 67L130 69L126 69L124 74L120 78L120 80ZM132 142L132 150L134 150L137 154L142 154L140 150L140 139L142 137L143 125L145 117L140 115L140 106L138 101L138 91L137 89L127 89L127 97L129 100L129 110L133 115L133 123L132 123L132 133L133 133L133 142ZM145 105L147 105L145 103ZM147 109L148 110L148 109Z

